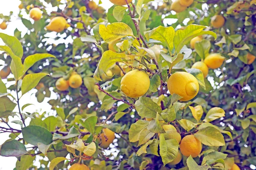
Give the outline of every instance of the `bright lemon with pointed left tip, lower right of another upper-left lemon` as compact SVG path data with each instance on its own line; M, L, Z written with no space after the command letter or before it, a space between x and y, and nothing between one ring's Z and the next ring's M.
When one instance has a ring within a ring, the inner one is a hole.
M67 20L64 17L54 17L46 26L49 31L61 32L67 26Z

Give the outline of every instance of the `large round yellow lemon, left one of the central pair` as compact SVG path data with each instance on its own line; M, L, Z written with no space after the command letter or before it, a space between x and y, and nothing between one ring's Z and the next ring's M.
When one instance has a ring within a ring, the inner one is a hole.
M149 89L150 80L145 71L133 70L121 80L121 91L129 97L143 96Z

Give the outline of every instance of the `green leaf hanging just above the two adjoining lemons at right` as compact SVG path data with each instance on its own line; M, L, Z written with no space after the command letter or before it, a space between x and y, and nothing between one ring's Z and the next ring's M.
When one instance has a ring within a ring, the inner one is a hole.
M211 49L211 42L209 40L202 40L195 43L195 51L202 58L205 59L209 55Z

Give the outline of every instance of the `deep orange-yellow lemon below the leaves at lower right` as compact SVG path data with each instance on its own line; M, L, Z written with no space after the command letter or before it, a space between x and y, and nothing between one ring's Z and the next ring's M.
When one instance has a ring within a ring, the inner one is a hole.
M202 150L201 142L193 135L185 136L180 142L180 152L182 155L192 158L197 157Z

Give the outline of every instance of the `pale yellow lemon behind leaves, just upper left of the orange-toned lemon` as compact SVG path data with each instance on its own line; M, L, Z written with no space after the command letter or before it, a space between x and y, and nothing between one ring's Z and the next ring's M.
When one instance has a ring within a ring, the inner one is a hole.
M166 133L163 133L164 138L166 140L168 139L176 139L178 143L181 141L180 133L177 132L176 128L173 125L163 125L163 129L166 131ZM160 136L160 133L158 133L158 136Z

